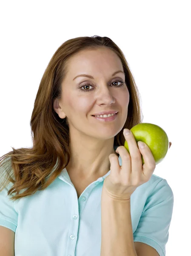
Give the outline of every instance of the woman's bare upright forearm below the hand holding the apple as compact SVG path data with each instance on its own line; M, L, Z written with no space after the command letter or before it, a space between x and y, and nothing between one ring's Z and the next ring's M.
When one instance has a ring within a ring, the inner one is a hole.
M104 190L101 200L101 256L137 256L129 200L115 200Z

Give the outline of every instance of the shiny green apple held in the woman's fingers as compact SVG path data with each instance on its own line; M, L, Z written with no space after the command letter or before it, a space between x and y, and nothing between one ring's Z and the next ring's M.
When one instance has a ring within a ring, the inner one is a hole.
M137 143L138 141L143 141L148 145L153 154L156 165L162 162L168 152L169 141L167 134L160 126L151 123L140 123L132 127L130 131L134 135ZM124 147L130 154L126 140ZM142 163L144 164L145 162L142 154L141 157Z

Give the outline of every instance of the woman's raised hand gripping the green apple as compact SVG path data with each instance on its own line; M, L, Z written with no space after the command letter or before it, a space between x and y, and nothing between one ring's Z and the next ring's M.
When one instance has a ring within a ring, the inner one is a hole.
M122 159L122 166L119 165L118 157L115 154L109 155L111 163L111 173L103 182L103 189L107 194L117 200L129 200L138 186L150 180L156 167L153 154L145 143L144 148L138 148L134 135L130 131L129 135L123 134L128 143L130 154L124 146L119 146L116 150ZM128 130L129 131L129 130ZM171 147L169 143L169 148ZM141 154L144 158L142 165Z

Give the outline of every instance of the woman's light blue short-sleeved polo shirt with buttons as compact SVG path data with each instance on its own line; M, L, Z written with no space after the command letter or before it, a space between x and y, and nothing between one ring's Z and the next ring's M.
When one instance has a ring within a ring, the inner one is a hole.
M0 226L14 231L15 256L100 256L101 194L109 174L92 182L80 198L66 168L48 188L15 202L7 195L12 184L3 189ZM153 174L139 186L131 195L134 242L148 244L165 256L173 205L165 179Z

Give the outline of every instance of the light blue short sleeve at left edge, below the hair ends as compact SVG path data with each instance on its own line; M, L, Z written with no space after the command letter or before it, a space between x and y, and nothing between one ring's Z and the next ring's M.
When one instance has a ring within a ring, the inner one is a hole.
M7 227L15 233L18 213L15 210L15 201L11 201L7 195L10 188L11 183L0 192L0 226Z

